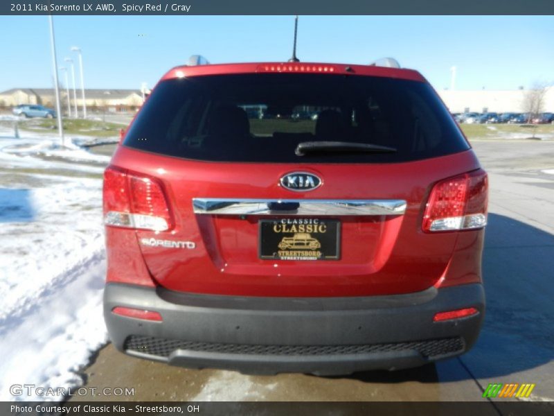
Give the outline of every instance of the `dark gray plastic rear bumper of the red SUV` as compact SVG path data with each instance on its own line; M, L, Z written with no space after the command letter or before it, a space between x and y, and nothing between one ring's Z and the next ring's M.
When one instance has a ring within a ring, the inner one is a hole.
M126 318L116 306L161 313L163 322ZM434 314L474 307L479 314L433 322ZM481 328L481 284L409 295L265 298L194 295L107 284L104 315L126 354L186 367L251 374L417 367L463 354Z

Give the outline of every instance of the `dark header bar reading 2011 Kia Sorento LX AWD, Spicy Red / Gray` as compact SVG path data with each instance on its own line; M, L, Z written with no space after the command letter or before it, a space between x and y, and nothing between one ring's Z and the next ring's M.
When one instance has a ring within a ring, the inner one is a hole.
M554 15L552 0L2 0L0 15Z

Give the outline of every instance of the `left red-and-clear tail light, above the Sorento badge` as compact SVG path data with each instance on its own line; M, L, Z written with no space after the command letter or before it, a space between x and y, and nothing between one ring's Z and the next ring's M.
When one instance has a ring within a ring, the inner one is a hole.
M113 227L166 231L172 216L154 177L109 166L104 173L104 222Z

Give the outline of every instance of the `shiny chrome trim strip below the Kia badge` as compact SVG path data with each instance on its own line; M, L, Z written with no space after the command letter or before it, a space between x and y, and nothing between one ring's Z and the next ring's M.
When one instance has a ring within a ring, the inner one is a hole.
M193 198L193 209L195 214L217 215L402 215L406 201Z

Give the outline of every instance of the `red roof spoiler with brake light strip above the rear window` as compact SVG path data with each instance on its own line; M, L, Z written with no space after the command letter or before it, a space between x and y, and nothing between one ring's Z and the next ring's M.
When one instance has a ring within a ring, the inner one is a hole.
M188 76L230 75L239 73L329 73L359 76L380 76L403 80L427 80L413 69L379 67L376 65L338 64L321 62L249 62L240 64L183 65L170 69L161 80Z

